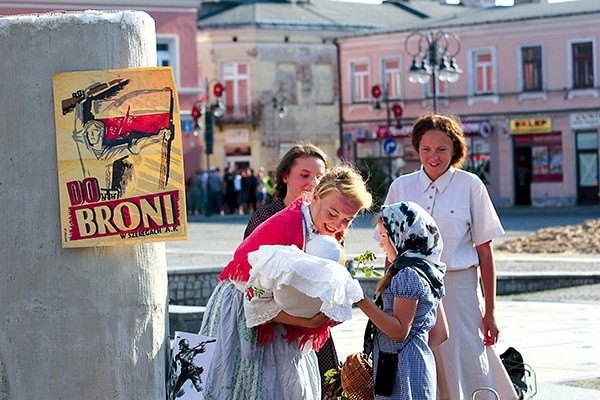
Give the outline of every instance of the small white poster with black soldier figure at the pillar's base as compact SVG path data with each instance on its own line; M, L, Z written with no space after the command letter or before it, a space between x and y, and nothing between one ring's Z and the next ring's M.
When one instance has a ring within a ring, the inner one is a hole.
M204 380L210 369L217 339L175 332L167 381L167 400L204 398Z

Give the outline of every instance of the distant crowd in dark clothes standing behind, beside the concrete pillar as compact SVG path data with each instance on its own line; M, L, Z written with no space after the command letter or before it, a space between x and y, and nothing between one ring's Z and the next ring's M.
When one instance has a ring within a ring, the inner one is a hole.
M194 214L252 214L273 198L273 171L258 172L234 165L210 170L199 169L186 182L187 213Z

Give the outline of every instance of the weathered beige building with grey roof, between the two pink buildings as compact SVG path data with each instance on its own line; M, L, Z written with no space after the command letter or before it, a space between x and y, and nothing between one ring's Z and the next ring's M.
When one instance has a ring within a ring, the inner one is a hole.
M213 153L206 167L274 169L298 140L335 157L341 103L333 38L414 24L447 12L464 8L430 0L379 5L329 0L203 2L197 44L198 70L209 100L204 109L215 105L214 85L225 88L225 113L214 121Z

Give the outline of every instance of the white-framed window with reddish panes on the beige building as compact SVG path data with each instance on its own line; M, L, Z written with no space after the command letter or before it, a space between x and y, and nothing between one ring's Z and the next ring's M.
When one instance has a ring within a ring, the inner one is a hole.
M245 62L222 65L225 113L233 117L250 115L250 66Z

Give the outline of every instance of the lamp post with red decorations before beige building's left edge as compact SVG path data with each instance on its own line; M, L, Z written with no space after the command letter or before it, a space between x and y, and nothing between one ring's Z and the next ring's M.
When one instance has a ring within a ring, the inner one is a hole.
M213 95L216 97L214 104L210 104L210 85ZM204 98L197 101L192 107L192 118L194 120L194 130L201 128L201 118L204 116L204 142L206 153L206 169L210 170L209 156L213 153L215 118L220 118L225 114L225 104L221 97L225 91L225 86L216 79L208 79L205 82Z

